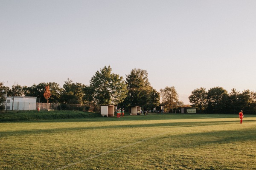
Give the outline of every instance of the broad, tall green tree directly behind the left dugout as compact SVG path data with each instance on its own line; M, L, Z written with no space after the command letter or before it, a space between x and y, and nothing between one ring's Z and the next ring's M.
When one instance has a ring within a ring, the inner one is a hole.
M91 102L98 105L117 105L127 96L125 80L111 71L110 66L104 66L91 78L89 87L85 88L87 99Z

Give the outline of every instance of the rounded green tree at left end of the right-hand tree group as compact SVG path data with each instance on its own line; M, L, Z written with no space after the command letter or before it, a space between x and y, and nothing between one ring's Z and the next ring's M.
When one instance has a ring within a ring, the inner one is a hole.
M189 102L192 103L192 107L197 108L202 113L207 108L207 91L205 88L197 88L192 91Z

